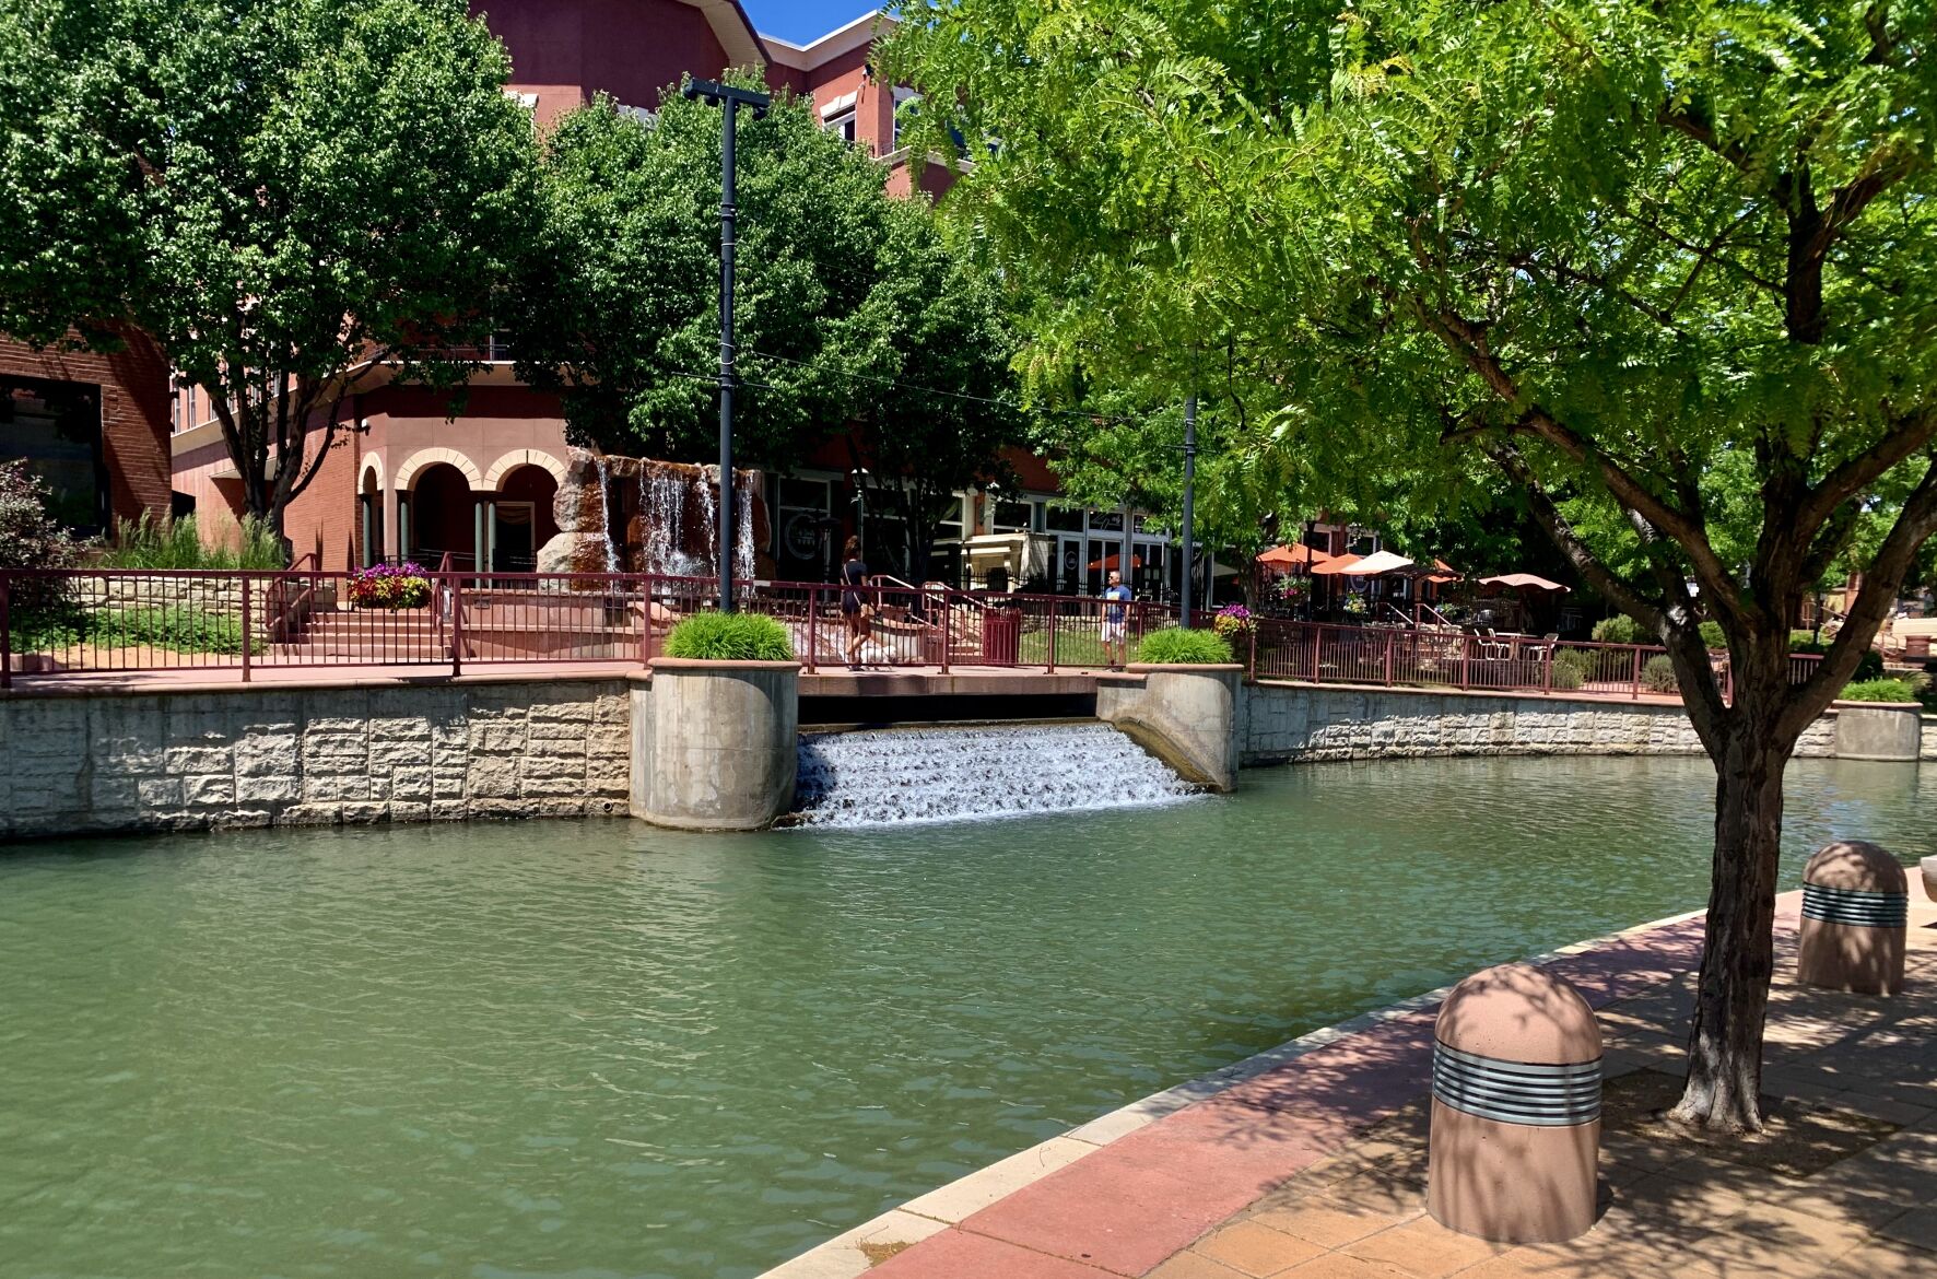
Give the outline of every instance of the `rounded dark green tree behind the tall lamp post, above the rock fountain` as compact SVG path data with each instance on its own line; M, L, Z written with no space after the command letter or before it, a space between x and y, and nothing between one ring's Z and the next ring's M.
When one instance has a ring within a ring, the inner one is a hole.
M723 124L705 103L661 101L651 120L595 101L546 138L546 229L513 345L519 376L560 391L575 438L705 461ZM806 99L742 114L736 153L738 450L786 471L854 426L870 523L899 529L883 566L922 574L953 492L998 475L1019 432L999 296Z

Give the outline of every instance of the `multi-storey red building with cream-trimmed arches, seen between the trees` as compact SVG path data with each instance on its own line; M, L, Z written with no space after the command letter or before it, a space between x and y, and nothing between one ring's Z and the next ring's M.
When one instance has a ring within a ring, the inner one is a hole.
M757 66L767 83L814 99L823 128L889 167L889 190L939 196L955 171L910 157L897 138L897 109L912 97L883 83L870 64L876 37L891 19L860 17L810 43L761 37L734 0L492 0L492 29L511 52L509 93L550 122L595 93L653 110L682 76L719 78ZM494 351L504 357L506 353ZM172 440L174 488L198 512L240 510L240 483L198 391L178 397L182 430ZM287 517L296 554L323 568L382 558L529 570L558 531L552 498L566 477L564 415L556 397L521 386L507 359L473 378L463 413L422 390L372 386L347 403L356 432L341 436L323 471ZM1098 589L1102 564L1122 546L1120 512L1081 512L1054 504L1056 481L1034 457L1017 453L1017 492L963 492L939 531L939 554L924 566L877 564L910 576L982 579L988 543L1015 546L1007 572L1056 589ZM761 576L819 579L858 508L852 459L833 440L808 467L769 477L769 529L757 548ZM870 514L879 523L881 512ZM976 556L968 541L982 539ZM1133 529L1139 585L1160 589L1174 577L1168 539ZM999 556L998 556L999 558ZM978 564L970 564L978 560Z

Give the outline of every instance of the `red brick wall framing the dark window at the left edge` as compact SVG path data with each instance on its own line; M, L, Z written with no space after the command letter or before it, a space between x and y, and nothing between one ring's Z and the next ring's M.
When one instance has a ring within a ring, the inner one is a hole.
M101 388L101 455L108 506L122 519L169 514L169 362L143 335L126 351L33 351L0 335L0 374Z

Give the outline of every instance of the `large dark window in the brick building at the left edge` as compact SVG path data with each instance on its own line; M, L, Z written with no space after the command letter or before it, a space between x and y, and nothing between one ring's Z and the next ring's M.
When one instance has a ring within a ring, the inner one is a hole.
M83 537L107 531L99 386L0 376L0 461L15 457L46 483L54 519Z

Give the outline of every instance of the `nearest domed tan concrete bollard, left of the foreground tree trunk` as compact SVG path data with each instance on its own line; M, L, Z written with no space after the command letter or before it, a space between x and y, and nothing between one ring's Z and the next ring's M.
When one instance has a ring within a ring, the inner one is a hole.
M1594 1225L1600 1025L1565 979L1530 963L1474 973L1433 1027L1426 1211L1505 1244Z

